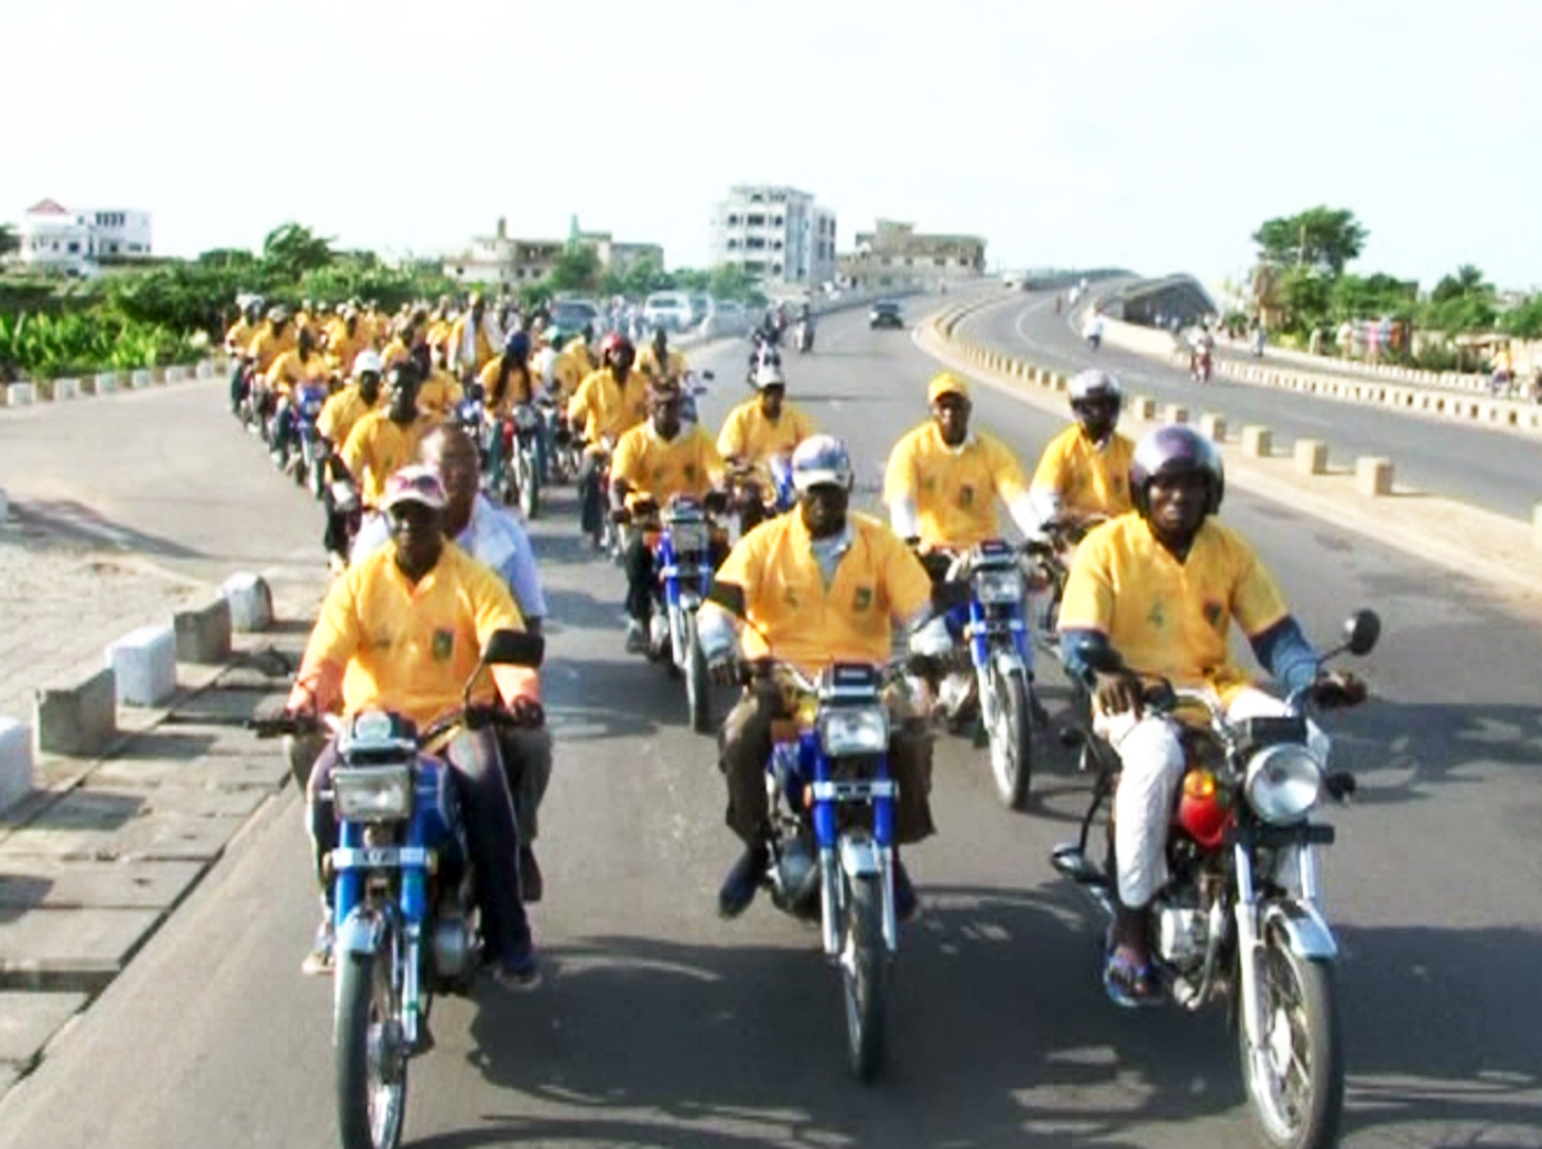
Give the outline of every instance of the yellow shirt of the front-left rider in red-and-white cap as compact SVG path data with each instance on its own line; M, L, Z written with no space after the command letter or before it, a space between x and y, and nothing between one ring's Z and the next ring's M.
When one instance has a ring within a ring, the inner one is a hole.
M389 544L332 585L305 645L299 683L342 677L342 709L386 708L419 726L461 705L493 631L523 631L509 588L455 543L416 586ZM524 676L534 679L530 671ZM503 674L500 672L500 683ZM523 691L521 691L523 692ZM473 699L492 697L492 679Z

